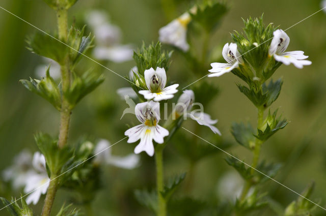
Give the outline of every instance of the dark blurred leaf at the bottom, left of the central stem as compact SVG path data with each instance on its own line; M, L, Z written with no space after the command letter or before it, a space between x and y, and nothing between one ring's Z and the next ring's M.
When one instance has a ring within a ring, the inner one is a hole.
M136 190L134 192L134 196L139 203L149 208L154 213L157 213L158 211L157 193L154 190L151 192L148 192L146 190Z

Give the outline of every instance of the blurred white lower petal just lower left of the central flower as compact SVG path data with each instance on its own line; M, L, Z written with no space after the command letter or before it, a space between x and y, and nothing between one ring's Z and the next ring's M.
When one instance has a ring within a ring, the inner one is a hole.
M131 153L125 157L112 156L108 161L108 164L120 167L123 169L133 169L139 166L140 157Z

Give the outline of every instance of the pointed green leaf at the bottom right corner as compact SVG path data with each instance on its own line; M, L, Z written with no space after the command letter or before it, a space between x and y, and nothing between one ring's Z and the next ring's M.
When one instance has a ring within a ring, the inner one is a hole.
M314 190L315 183L311 182L307 188L302 192L302 196L310 199L310 196ZM306 216L312 215L312 211L316 208L316 205L309 200L298 197L296 200L291 202L285 209L284 216ZM318 201L315 201L319 203Z

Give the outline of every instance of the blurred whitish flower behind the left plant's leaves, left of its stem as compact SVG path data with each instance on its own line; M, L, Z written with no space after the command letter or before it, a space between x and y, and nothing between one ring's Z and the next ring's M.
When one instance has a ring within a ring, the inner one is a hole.
M54 80L59 80L61 77L61 72L60 72L60 65L57 63L57 61L52 60L50 58L47 57L42 57L44 60L45 64L39 65L36 67L35 69L35 74L38 77L45 77L46 76L46 68L48 66L50 66L50 76L54 79Z

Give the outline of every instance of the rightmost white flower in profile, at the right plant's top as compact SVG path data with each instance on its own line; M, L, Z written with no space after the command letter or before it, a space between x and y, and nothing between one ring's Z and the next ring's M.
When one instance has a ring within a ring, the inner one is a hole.
M284 65L291 63L297 68L303 68L304 65L311 65L311 61L303 60L308 58L303 51L285 52L290 43L290 38L282 29L277 29L273 33L274 37L271 40L268 50L269 56L274 56L275 60L281 61Z

